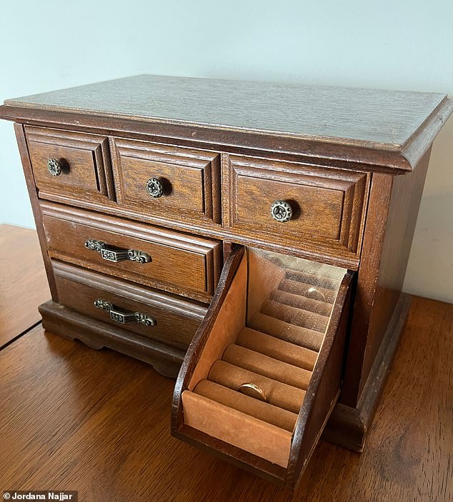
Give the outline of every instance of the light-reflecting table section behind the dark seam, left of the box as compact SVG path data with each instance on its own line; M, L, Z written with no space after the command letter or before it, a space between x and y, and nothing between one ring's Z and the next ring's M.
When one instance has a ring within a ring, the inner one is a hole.
M36 231L0 225L0 347L41 321L49 298Z

